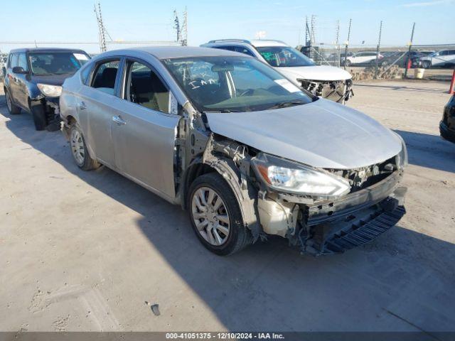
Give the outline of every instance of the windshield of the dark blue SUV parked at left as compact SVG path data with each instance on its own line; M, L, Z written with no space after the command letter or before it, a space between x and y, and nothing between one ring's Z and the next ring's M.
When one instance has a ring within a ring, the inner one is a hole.
M83 65L78 59L80 53L53 52L29 53L31 72L33 75L63 75L73 74ZM84 55L86 60L88 56Z

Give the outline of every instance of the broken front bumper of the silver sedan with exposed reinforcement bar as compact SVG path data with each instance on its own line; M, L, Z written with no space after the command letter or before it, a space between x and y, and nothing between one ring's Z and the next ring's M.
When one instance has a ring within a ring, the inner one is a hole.
M368 243L405 215L400 171L368 188L336 200L309 201L286 193L259 195L258 212L266 234L287 237L304 253L341 253Z

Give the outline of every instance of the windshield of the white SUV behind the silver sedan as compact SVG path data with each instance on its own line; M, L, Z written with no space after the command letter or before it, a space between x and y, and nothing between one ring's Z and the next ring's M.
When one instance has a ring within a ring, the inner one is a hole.
M315 65L306 55L289 46L264 46L256 49L274 67Z

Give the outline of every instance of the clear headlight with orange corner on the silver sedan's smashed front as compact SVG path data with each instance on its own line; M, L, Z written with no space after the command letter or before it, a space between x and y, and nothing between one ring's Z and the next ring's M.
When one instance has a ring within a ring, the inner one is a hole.
M275 190L334 199L350 192L348 180L299 163L259 153L252 160L256 173Z

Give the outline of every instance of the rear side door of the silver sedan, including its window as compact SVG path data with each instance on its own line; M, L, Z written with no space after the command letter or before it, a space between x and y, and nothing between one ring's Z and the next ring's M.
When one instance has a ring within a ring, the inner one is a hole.
M122 58L100 60L88 80L82 85L76 107L85 140L101 163L115 168L114 146L111 139L112 118L119 114L122 100L117 96L119 67Z

